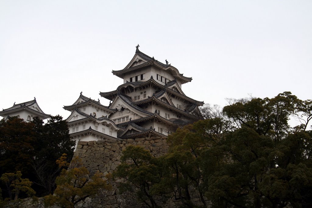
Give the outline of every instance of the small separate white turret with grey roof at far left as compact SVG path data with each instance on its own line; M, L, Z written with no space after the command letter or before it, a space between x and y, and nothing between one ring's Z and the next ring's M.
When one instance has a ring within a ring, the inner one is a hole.
M33 117L39 117L40 119L48 119L51 115L43 113L39 105L37 104L36 98L31 101L24 103L13 104L11 108L2 109L0 116L7 119L8 117L19 116L26 122L33 120Z

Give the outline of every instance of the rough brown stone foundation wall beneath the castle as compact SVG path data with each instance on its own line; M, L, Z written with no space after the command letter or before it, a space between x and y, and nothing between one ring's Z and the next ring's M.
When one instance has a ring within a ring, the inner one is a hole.
M82 159L83 165L90 173L100 171L104 175L113 173L117 166L121 163L120 157L122 151L129 145L142 146L149 150L155 157L161 156L168 151L166 139L163 138L138 138L125 140L107 140L107 141L90 141L78 142L74 157L78 156ZM136 200L134 195L119 194L115 181L111 181L112 190L99 193L99 197L89 198L78 207L147 207L144 203ZM202 206L200 198L193 192L193 201L197 206ZM172 197L168 199L162 207L178 207L181 205Z

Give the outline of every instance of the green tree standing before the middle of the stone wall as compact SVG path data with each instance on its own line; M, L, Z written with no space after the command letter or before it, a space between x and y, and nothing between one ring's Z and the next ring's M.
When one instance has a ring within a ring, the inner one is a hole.
M123 179L118 188L121 193L134 193L148 207L159 207L159 199L167 199L170 185L164 180L163 157L155 158L139 146L128 146L121 157L121 164L114 172L115 178Z

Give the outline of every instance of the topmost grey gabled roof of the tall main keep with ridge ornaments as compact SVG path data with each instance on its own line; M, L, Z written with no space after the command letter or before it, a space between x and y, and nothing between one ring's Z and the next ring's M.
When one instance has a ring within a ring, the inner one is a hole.
M132 64L136 60L143 60L144 63L132 66ZM132 60L129 62L129 64L122 70L113 70L112 73L113 73L113 75L116 75L116 76L123 79L125 73L131 72L131 71L134 71L134 70L137 70L139 68L149 66L149 65L154 65L154 66L158 67L159 69L162 69L165 71L170 71L174 77L181 80L182 84L192 81L192 77L183 76L183 74L179 73L179 70L177 68L171 66L170 64L163 64L162 62L155 60L154 57L151 58L150 56L142 53L141 51L139 51L138 46L137 46L137 50L135 51L135 54L134 54Z

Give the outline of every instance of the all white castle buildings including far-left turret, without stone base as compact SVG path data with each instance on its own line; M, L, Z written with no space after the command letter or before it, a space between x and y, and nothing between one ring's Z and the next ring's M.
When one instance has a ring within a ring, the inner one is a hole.
M139 45L129 64L113 75L124 80L122 85L100 96L110 100L109 106L80 93L76 102L64 106L71 112L66 119L70 136L76 141L106 139L166 138L178 127L201 118L198 106L203 102L186 96L182 85L192 80L183 76L166 60L162 63L143 52ZM36 99L3 109L0 115L19 115L25 121L33 116L46 119Z

